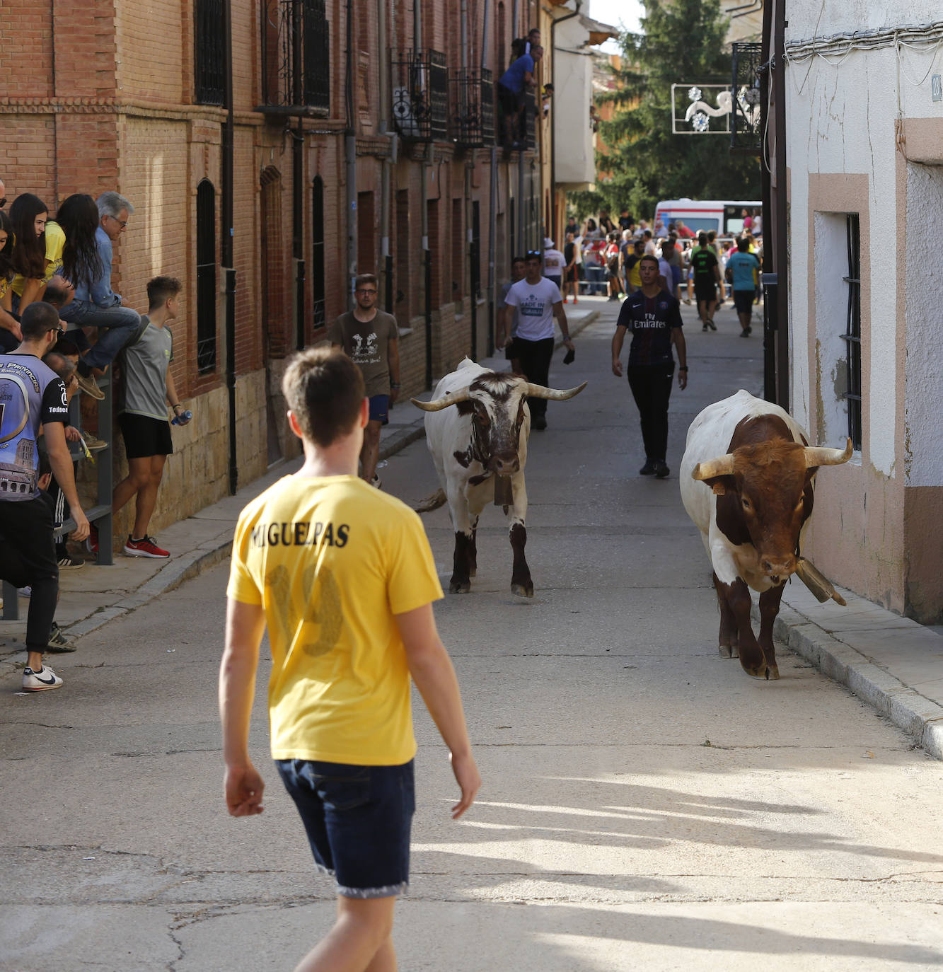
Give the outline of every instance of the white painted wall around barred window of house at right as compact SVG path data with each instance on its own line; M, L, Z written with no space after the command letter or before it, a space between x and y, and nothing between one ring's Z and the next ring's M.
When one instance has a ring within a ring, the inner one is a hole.
M842 31L929 23L939 17L938 0L915 0L906 6L896 0L844 0L841 4L794 0L789 4L786 42ZM939 117L943 121L943 102L930 99L930 75L943 71L943 47L930 53L903 50L899 75L897 54L892 48L852 52L829 60L813 57L789 64L786 71L787 164L791 172L791 408L796 419L808 425L814 395L810 376L815 378L807 339L808 175L863 173L868 177L869 191L858 206L859 212L867 212L871 227L870 239L864 238L863 232L861 239L862 260L865 249L870 257L871 284L870 372L865 378L870 391L863 403L865 429L869 430L866 449L874 468L891 476L902 468L903 461L895 454L894 422L896 365L898 356L904 353L895 335L901 312L896 306L900 255L894 247L895 227L901 225L905 214L897 212L894 121L898 100L904 118ZM934 224L918 221L910 225L910 233L926 233L930 226ZM844 327L844 314L840 324ZM822 362L823 379L829 366ZM943 480L937 478L935 482Z

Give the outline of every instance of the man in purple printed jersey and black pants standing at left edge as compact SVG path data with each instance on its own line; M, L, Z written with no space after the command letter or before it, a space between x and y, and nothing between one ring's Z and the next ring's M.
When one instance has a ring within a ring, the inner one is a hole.
M65 441L69 421L65 386L41 361L58 337L58 312L52 304L36 300L23 310L20 327L23 341L16 354L0 355L0 444L4 446L0 452L0 577L17 587L32 587L22 689L42 692L58 688L62 679L43 664L43 652L50 650L59 571L52 503L39 489L41 432L52 472L76 522L73 539L87 538L88 521Z

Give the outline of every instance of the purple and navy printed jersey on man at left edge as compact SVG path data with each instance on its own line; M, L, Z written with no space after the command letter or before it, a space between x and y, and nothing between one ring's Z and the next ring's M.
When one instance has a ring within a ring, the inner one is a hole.
M69 421L61 379L34 355L0 355L0 503L39 496L40 426Z

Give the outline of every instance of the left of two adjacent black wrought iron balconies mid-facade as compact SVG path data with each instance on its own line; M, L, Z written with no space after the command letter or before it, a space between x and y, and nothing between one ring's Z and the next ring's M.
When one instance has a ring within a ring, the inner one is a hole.
M439 51L390 54L393 121L402 138L444 141L448 135L448 68Z

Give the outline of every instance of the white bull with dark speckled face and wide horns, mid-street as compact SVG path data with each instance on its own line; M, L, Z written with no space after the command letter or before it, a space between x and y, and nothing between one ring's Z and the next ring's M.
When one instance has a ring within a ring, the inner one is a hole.
M432 401L411 399L426 415L426 442L436 465L441 490L435 509L448 502L455 531L455 553L449 591L466 593L477 568L478 518L492 497L504 506L509 521L514 567L510 589L534 596L534 582L524 555L527 543L527 488L524 466L531 433L528 396L562 401L586 387L555 391L532 385L517 374L489 371L464 359L436 386Z

